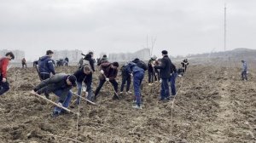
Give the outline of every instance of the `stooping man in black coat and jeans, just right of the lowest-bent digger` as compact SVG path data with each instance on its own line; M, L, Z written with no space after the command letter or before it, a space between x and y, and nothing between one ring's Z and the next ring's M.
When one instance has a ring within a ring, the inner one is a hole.
M78 84L78 94L81 96L82 92L82 83L86 85L86 95L87 100L92 100L92 91L91 91L91 83L92 83L92 69L90 65L84 65L83 67L79 68L78 71L74 72L74 76L77 78ZM78 97L76 103L79 105L80 97Z

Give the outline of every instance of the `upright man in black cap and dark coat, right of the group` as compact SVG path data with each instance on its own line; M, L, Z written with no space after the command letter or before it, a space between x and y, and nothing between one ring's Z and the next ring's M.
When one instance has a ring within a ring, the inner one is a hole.
M152 66L156 69L160 69L161 78L161 90L160 90L160 100L170 100L170 91L168 86L168 81L171 77L171 64L172 61L168 57L168 52L166 50L162 51L163 58L161 59L160 66Z

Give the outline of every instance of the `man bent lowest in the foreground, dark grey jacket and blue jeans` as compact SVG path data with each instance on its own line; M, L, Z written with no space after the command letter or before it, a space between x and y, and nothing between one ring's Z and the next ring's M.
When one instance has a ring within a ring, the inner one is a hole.
M59 97L58 105L67 108L73 95L71 89L77 86L76 80L77 78L74 75L58 73L39 83L31 93L49 94L53 92L56 96ZM61 113L65 113L65 110L59 106L55 107L52 114L53 117L57 117Z

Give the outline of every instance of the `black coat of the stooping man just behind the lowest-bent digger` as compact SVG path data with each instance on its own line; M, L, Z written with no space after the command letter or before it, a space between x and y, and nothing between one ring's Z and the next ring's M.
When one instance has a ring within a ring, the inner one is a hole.
M86 75L84 73L84 67L83 68L79 68L79 70L77 72L74 72L73 74L75 77L77 77L77 82L78 83L82 83L84 82L84 84L86 85L86 91L90 91L91 89L91 83L92 83L92 72L90 72L89 75Z

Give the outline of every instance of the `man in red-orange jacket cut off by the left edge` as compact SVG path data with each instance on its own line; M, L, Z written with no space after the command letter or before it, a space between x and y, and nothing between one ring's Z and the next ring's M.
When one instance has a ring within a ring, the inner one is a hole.
M4 94L9 90L9 83L6 80L7 77L7 66L9 60L14 60L15 54L8 52L5 57L0 58L0 95Z

